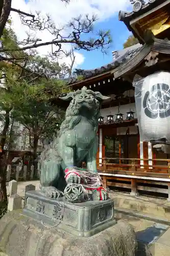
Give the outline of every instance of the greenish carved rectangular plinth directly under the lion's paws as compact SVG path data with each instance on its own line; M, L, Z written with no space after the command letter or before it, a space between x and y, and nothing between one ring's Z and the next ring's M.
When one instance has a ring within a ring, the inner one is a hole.
M116 223L113 199L73 204L38 190L26 192L23 214L78 237L90 237Z

